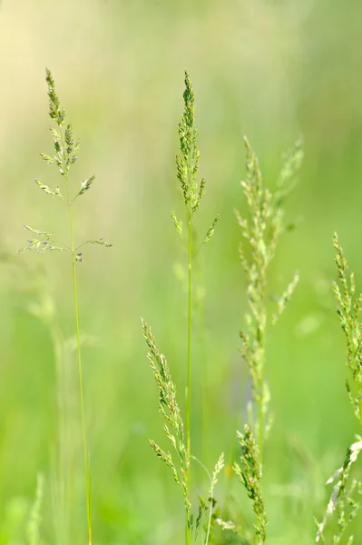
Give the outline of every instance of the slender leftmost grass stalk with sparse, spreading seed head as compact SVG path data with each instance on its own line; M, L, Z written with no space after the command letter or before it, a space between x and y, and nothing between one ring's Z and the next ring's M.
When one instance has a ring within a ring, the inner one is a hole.
M46 69L46 83L48 85L48 98L49 98L49 115L51 119L57 125L56 128L51 128L50 132L54 138L54 155L40 154L42 159L47 164L55 164L58 167L59 173L64 179L65 196L61 193L58 186L52 190L48 185L35 180L36 185L42 189L42 191L48 195L54 195L61 200L68 207L69 216L69 229L70 229L70 246L64 243L58 243L54 240L54 236L48 233L44 229L33 229L28 225L24 228L30 233L34 233L41 238L32 238L28 240L27 246L25 246L20 252L26 250L35 251L37 253L45 253L47 251L55 252L69 252L72 260L72 277L73 277L73 304L74 304L74 322L75 322L75 335L77 344L77 360L78 360L78 374L79 374L79 396L81 405L81 428L83 438L83 471L84 471L84 491L86 502L86 520L87 520L87 535L88 545L92 545L92 509L91 509L91 469L90 469L90 454L87 446L87 433L85 423L85 409L84 409L84 391L83 391L83 368L82 368L82 347L79 327L79 304L77 293L77 277L76 277L76 263L83 262L83 253L79 252L80 248L87 243L100 244L105 247L112 246L103 240L102 237L86 241L85 243L75 246L74 243L74 227L73 227L73 204L78 197L86 193L93 185L95 176L86 178L81 183L79 189L76 190L73 195L71 192L69 173L73 166L73 163L78 159L78 151L80 141L76 142L73 139L73 127L71 124L67 124L64 128L64 121L66 113L64 107L59 101L54 88L54 79L51 72Z

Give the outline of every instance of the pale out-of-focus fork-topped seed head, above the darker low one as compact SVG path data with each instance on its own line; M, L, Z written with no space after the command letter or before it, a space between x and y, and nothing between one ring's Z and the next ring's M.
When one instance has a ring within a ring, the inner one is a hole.
M275 193L270 193L263 185L258 157L251 149L247 138L244 139L244 143L247 174L241 186L248 204L249 218L242 218L239 212L236 212L236 216L242 236L239 247L240 262L248 279L249 312L245 316L246 329L240 332L240 352L251 378L253 404L257 414L250 417L249 423L254 426L262 463L264 434L265 429L268 430L269 427L268 423L266 425L266 417L270 401L265 369L266 333L269 325L268 268L275 255L279 236L286 229L282 205L296 183L303 152L300 144L295 144L293 150L287 154ZM277 310L271 318L271 323L278 321L297 284L298 272L285 292L277 299ZM249 408L249 413L252 415L252 407Z

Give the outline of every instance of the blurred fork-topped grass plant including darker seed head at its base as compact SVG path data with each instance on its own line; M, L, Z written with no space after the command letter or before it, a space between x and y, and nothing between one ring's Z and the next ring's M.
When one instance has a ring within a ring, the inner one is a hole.
M269 411L270 391L267 369L267 334L284 312L298 284L298 272L286 290L275 297L269 292L269 264L275 256L279 236L290 230L284 222L283 204L297 181L303 160L300 143L286 154L274 193L264 187L259 160L247 138L246 179L241 182L249 209L249 217L236 212L242 239L239 246L240 263L248 279L249 312L245 314L245 328L240 332L240 353L249 371L251 400L248 403L248 423L238 431L240 463L234 461L233 471L247 491L255 515L253 529L220 520L224 530L234 530L247 543L265 543L268 515L262 492L264 443L271 428ZM274 312L269 311L273 300ZM233 452L232 454L235 454ZM233 457L233 455L231 456Z

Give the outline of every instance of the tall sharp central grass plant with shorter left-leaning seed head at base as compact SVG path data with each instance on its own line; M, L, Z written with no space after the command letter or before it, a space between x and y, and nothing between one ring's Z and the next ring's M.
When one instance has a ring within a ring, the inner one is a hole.
M183 93L184 111L179 124L181 154L176 156L177 178L181 186L183 203L186 216L186 248L188 269L188 297L187 297L187 362L186 362L186 388L185 388L185 418L181 417L181 410L176 401L176 387L171 379L171 373L167 361L157 348L151 329L142 321L143 335L149 348L148 359L159 389L159 409L166 423L164 431L176 451L177 462L173 461L170 451L163 451L157 443L150 441L150 445L156 455L168 465L173 473L176 484L181 487L185 507L185 545L196 542L203 515L209 510L206 525L204 543L210 542L212 512L214 508L214 488L218 481L220 471L224 467L224 454L220 455L212 476L210 477L210 490L208 499L202 498L199 502L197 513L193 513L191 506L191 341L192 341L192 270L196 254L201 246L196 246L196 233L193 217L197 212L201 199L205 192L206 180L201 178L198 182L200 151L197 143L198 132L195 126L195 94L193 92L189 74L185 73L185 90ZM205 233L201 245L209 243L215 227L219 222L217 215ZM174 210L171 210L171 219L181 238L183 236L182 222L177 218ZM169 427L171 426L171 429ZM198 460L196 460L198 461ZM202 464L201 461L199 463ZM206 468L205 468L206 469Z

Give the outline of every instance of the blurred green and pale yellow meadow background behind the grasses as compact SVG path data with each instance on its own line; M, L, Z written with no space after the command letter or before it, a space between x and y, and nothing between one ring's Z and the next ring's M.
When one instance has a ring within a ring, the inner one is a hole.
M78 266L94 543L182 543L181 492L148 446L152 438L167 447L167 439L140 318L152 324L183 407L186 256L170 209L183 212L174 158L185 69L208 180L200 236L220 213L197 263L193 322L192 451L209 470L221 451L228 461L238 455L235 430L249 400L238 352L247 299L234 216L234 208L246 211L242 137L259 154L270 188L283 151L304 140L286 212L298 227L282 236L270 269L271 296L296 270L301 280L268 340L274 425L265 494L270 545L314 542L314 517L321 520L331 491L324 483L358 431L331 281L337 231L362 289L361 20L359 0L347 7L331 0L3 0L0 545L27 542L38 473L42 543L61 543L63 516L69 542L86 535L71 264L64 253L16 253L28 238L24 224L69 240L63 203L33 183L62 183L39 157L52 152L45 66L81 138L73 183L96 174L76 203L76 239L113 243L85 247ZM60 430L71 488L64 508L57 504ZM217 490L221 510L229 469ZM196 463L192 471L196 505L208 482ZM230 516L249 516L244 490L237 482L231 489ZM221 542L240 541L224 534Z

